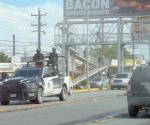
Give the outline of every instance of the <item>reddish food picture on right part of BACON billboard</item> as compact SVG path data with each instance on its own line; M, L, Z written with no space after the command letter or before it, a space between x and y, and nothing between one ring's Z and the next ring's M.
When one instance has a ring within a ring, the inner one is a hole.
M119 15L150 15L150 0L113 0L112 13Z

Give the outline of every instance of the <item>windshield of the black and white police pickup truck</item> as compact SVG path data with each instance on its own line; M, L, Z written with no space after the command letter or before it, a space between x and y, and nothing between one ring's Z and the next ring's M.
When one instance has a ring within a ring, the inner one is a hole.
M35 77L40 75L41 75L40 69L22 69L22 70L17 70L15 72L14 77Z

